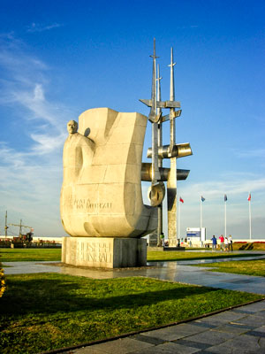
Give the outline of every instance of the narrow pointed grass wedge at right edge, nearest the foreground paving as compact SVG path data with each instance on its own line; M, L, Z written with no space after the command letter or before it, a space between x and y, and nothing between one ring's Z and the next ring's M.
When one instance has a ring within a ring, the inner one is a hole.
M211 272L265 276L265 259L208 263L203 266L215 267L215 269L209 269Z

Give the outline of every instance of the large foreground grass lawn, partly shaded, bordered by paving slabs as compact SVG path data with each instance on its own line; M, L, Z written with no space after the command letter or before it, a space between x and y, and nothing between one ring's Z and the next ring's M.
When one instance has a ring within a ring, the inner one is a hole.
M6 276L0 352L36 353L243 304L261 296L148 278L57 273Z

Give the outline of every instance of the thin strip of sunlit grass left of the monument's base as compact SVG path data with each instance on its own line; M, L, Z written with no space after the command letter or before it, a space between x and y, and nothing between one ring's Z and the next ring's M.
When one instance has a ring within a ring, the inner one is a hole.
M61 260L61 249L0 249L0 261L53 261Z

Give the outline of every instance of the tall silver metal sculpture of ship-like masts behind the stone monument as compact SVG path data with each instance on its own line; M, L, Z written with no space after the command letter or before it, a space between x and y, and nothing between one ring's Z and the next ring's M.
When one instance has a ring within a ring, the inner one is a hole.
M150 107L148 116L152 123L152 148L148 149L148 158L152 158L152 164L142 164L142 181L152 181L148 191L148 197L152 206L158 206L158 228L157 236L162 232L163 215L162 202L165 194L163 181L167 181L168 197L168 239L169 247L177 246L177 180L186 180L189 170L177 170L177 158L192 155L189 142L176 144L175 119L180 117L180 103L175 101L174 87L174 65L173 49L171 48L170 60L170 100L161 101L159 68L158 68L158 95L155 87L155 39L153 58L153 76L152 76L152 98L151 100L140 99L140 102ZM170 109L170 114L162 116L162 109ZM170 120L170 144L162 145L162 125L163 122ZM170 168L163 168L163 158L170 158Z

